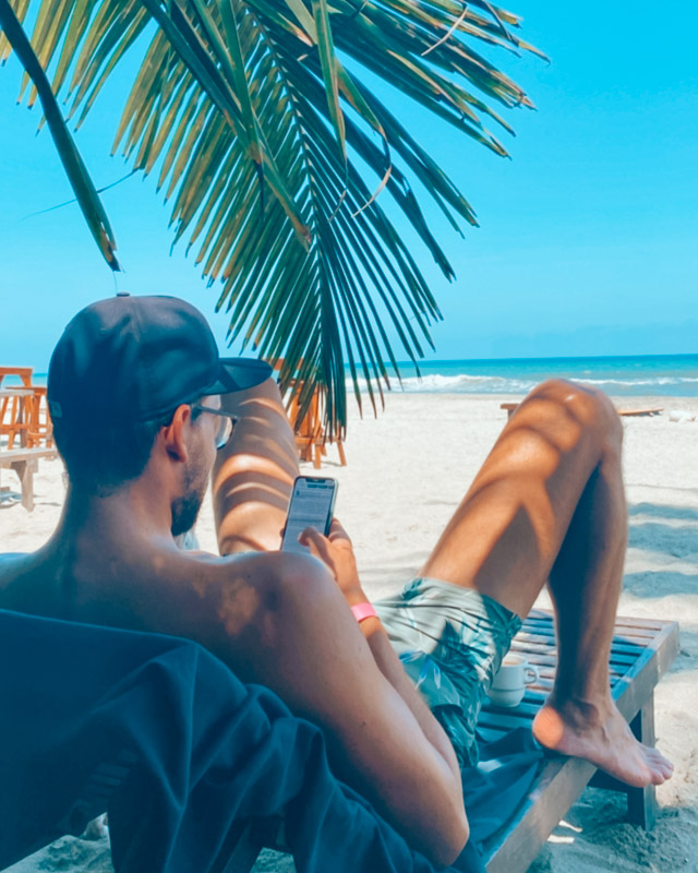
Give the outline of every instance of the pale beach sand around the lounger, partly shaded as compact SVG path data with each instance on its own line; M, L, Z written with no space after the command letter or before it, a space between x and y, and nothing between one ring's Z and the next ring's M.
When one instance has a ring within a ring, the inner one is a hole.
M377 420L368 409L364 419L352 410L348 466L339 466L329 446L323 473L339 480L337 516L353 538L370 596L395 590L423 562L501 431L505 399L404 394L389 396ZM698 871L698 421L669 416L670 410L698 414L698 398L617 404L665 410L655 418L624 419L630 533L619 612L681 622L681 655L655 691L659 746L676 770L658 790L661 813L653 833L624 823L618 796L588 789L531 873ZM61 469L58 461L40 463L33 513L3 503L2 551L32 550L51 533L64 495ZM3 470L2 485L14 482ZM203 548L215 551L208 502L197 535ZM545 595L541 603L546 605ZM288 864L272 859L270 868L288 870ZM13 871L105 869L105 840L63 839Z

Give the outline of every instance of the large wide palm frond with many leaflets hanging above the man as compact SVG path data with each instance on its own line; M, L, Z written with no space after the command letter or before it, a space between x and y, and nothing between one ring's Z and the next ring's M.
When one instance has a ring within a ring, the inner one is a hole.
M506 155L488 125L510 133L497 107L532 104L484 51L537 52L517 16L486 0L35 2L35 48L79 123L144 52L115 150L157 174L174 240L221 283L230 342L285 359L301 416L320 386L330 436L346 427L345 361L377 408L389 371L399 380L392 333L417 362L441 318L392 215L448 278L413 182L455 229L477 218L368 74Z

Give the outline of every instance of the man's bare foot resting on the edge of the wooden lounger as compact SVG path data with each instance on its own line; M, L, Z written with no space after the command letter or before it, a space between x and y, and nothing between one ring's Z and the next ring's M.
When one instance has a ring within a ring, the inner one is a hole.
M614 703L546 704L533 719L533 736L546 749L583 757L635 788L661 785L673 765L639 742Z

